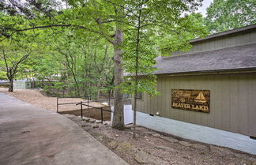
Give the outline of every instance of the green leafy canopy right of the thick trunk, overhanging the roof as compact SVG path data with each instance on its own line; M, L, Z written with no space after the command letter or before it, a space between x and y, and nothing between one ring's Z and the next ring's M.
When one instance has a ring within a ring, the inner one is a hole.
M125 22L129 28L124 31L126 37L122 58L123 67L130 76L120 85L122 92L147 92L150 96L159 94L156 91L156 75L152 75L156 70L156 57L170 51L188 51L190 39L207 35L201 14L184 14L197 6L200 6L200 1L127 2L126 9L132 10L133 15ZM139 74L138 80L136 73Z

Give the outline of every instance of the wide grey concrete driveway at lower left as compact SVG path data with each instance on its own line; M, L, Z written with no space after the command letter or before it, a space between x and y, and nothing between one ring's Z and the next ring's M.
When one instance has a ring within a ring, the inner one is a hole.
M2 93L0 164L127 165L70 119Z

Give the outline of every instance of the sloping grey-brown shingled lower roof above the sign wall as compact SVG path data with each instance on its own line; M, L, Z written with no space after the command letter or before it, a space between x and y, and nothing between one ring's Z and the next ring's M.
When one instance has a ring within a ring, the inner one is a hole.
M173 57L156 58L155 74L256 70L256 43Z

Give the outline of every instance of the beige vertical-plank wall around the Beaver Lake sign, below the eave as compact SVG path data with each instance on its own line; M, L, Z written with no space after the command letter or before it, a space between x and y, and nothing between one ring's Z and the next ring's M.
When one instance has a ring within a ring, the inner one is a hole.
M256 137L256 73L158 77L157 88L160 96L144 93L137 111ZM171 89L210 90L210 113L172 108Z

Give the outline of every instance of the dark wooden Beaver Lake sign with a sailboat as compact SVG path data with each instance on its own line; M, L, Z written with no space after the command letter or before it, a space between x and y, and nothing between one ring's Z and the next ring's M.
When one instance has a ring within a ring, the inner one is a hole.
M209 90L171 89L171 107L209 113Z

